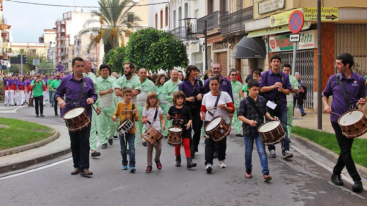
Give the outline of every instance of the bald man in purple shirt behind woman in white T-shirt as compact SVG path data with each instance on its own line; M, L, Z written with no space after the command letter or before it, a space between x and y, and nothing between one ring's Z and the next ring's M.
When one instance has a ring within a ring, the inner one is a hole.
M212 72L213 76L217 76L219 78L219 90L223 92L227 92L232 99L232 102L234 102L233 99L233 93L232 93L232 84L230 80L222 75L222 65L220 63L214 63L212 66ZM205 80L204 82L204 94L210 92L209 87L209 79ZM229 118L233 117L233 113L229 114ZM204 133L204 128L201 129L201 132ZM215 149L214 149L214 158L218 157L218 144L215 143Z

